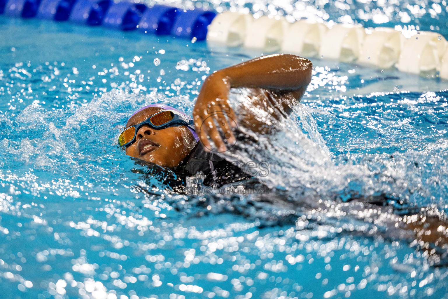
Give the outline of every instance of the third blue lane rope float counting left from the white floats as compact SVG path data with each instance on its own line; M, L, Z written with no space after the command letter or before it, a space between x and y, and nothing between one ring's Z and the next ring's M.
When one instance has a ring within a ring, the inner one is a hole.
M112 3L103 19L103 26L113 29L134 30L146 10L145 4L126 1Z

